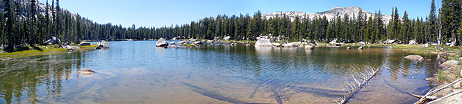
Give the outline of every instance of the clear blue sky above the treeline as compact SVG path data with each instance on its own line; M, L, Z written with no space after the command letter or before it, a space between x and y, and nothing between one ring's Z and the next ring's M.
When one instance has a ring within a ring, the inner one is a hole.
M44 3L46 0L39 0ZM51 0L49 0L51 4ZM368 12L381 10L390 15L393 6L399 16L406 10L409 17L429 14L431 0L61 0L61 8L79 13L100 24L122 26L171 26L189 24L204 17L226 15L253 15L277 11L322 12L333 7L358 6ZM440 4L440 0L436 0ZM438 8L438 5L437 5Z

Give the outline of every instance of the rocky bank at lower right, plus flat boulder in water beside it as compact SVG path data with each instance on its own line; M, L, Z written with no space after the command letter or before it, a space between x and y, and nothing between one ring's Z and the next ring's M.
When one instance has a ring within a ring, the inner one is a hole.
M438 73L425 78L429 82L431 89L425 95L415 95L420 98L415 104L423 103L462 103L462 63L461 59L447 60L448 57L458 58L457 55L442 53L437 58ZM420 55L408 55L404 57L407 60L423 61ZM447 60L447 61L446 61Z

